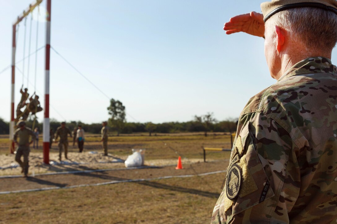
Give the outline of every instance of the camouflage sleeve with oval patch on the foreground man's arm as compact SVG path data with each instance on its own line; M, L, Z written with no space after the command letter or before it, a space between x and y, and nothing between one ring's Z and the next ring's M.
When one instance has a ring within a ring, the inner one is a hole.
M289 223L299 192L298 148L270 117L240 118L214 223Z

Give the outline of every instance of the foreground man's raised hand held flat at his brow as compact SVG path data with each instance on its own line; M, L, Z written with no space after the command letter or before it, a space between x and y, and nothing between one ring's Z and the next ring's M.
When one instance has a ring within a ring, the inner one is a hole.
M250 12L234 16L224 24L223 29L226 34L245 32L253 36L264 37L265 23L263 22L263 14Z

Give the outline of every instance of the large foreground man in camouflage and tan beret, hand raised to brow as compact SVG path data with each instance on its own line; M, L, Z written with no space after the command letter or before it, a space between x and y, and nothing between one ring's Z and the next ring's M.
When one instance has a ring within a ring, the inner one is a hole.
M240 115L211 223L336 223L337 1L261 8L263 15L235 16L224 30L264 37L277 82Z

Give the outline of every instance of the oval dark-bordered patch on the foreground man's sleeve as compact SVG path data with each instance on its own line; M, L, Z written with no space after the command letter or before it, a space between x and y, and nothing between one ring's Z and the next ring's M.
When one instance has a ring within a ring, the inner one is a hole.
M242 181L242 171L240 166L233 164L227 174L226 179L226 194L229 199L234 199L238 196Z

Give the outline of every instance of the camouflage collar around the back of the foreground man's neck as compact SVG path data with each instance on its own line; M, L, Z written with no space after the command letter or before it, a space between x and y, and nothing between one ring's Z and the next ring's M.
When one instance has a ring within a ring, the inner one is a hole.
M331 64L331 60L324 57L307 58L296 63L286 71L277 81L289 78L294 75L312 73L333 73L337 74L337 67Z

